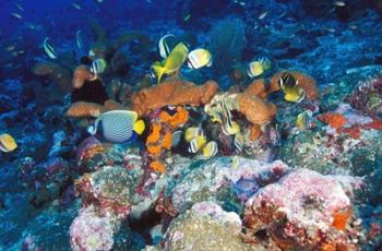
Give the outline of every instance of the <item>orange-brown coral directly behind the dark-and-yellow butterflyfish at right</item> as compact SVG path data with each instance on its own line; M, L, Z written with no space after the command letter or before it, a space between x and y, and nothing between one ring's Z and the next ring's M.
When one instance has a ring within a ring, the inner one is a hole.
M282 76L283 72L277 72L272 76L268 93L279 91L278 80ZM312 100L319 96L319 89L313 77L298 71L288 72L298 81L299 86L306 91L308 99Z

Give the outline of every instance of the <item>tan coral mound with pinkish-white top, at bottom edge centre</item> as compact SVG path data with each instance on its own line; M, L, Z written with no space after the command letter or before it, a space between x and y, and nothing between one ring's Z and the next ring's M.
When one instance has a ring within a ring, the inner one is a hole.
M165 250L251 250L240 239L241 220L215 203L201 202L171 223L165 235Z

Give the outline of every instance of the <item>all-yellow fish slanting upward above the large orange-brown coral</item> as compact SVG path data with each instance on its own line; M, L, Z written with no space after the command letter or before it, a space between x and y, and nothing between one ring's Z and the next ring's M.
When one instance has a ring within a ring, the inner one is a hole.
M179 43L163 62L155 62L152 65L158 79L158 83L164 74L171 74L181 68L187 59L188 52L189 49L187 46L183 43Z

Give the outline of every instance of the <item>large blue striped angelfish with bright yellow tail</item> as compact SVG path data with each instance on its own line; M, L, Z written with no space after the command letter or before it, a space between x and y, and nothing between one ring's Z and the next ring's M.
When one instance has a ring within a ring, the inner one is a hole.
M100 134L110 143L128 143L144 131L142 120L136 121L138 115L130 110L112 110L100 115L88 128L92 135Z

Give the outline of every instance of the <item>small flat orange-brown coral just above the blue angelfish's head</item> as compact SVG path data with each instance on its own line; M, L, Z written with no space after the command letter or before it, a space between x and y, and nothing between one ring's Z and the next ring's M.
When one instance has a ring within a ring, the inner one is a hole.
M104 113L106 108L102 105L87 101L76 101L72 104L67 110L68 117L84 118L84 117L98 117Z

